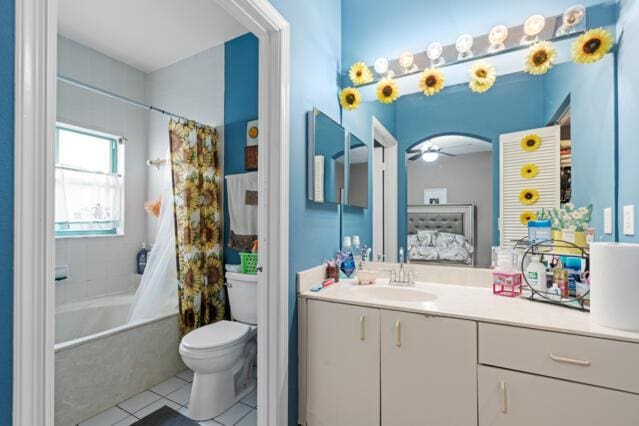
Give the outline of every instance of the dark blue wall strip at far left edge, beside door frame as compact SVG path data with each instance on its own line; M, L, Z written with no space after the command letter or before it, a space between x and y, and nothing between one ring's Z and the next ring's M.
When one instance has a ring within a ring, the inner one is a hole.
M13 363L13 0L2 2L0 13L0 425L11 424Z

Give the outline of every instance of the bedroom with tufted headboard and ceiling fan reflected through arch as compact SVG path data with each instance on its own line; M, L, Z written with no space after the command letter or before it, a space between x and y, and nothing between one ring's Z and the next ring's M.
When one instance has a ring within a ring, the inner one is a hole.
M411 151L416 154L410 154ZM412 250L411 260L489 266L493 212L492 144L469 136L449 135L420 142L411 151L407 154L406 170L409 222L413 217L417 220L430 217L434 227L429 229L430 232L413 234L412 241L409 230L407 245ZM429 153L424 156L424 151ZM421 205L432 205L433 210L410 211L411 207ZM455 229L456 213L452 210L460 205L474 206L474 220L468 227L459 221L461 227Z

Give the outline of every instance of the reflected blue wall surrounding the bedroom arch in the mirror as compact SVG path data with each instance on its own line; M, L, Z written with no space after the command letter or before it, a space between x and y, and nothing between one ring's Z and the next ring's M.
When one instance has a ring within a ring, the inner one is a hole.
M512 74L497 79L488 92L477 95L460 84L446 88L438 96L421 93L402 96L397 101L398 225L399 241L406 240L406 161L403 153L416 143L442 134L473 135L493 143L493 212L499 211L499 135L543 126L543 103L538 94L543 79ZM521 99L522 102L504 102ZM497 218L493 220L493 239L499 241Z

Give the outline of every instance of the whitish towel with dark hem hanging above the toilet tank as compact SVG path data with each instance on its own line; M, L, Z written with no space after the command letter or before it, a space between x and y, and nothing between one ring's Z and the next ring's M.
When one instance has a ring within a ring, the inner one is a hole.
M250 248L257 235L257 172L226 176L226 192L231 235L235 236L229 241L229 246L236 248L233 241L240 237L249 241ZM237 248L244 249L244 244Z

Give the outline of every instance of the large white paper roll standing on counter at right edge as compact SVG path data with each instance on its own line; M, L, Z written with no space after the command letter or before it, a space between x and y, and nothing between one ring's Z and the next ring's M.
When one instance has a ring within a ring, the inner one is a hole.
M597 324L639 330L639 244L590 245L590 313Z

